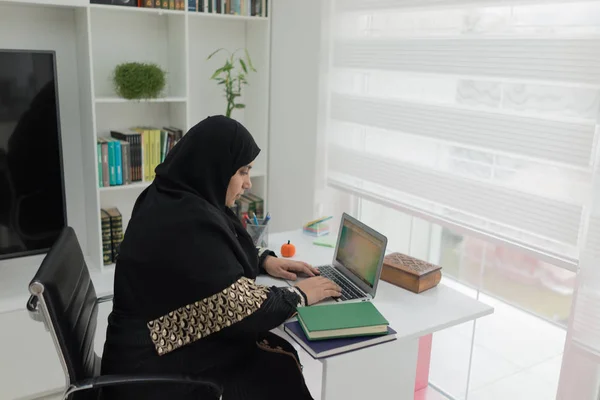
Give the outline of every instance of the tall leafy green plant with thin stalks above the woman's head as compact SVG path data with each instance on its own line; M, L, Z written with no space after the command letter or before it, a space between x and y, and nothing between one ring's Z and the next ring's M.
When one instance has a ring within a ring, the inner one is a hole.
M248 50L246 49L244 49L244 57L237 56L240 50L232 53L225 49L219 49L209 55L207 60L210 60L215 54L221 51L227 51L229 56L225 59L225 65L218 68L210 79L217 81L218 85L223 85L225 98L227 99L227 111L225 115L231 117L231 112L234 109L246 107L245 104L237 103L236 100L242 95L242 87L248 84L246 76L248 76L250 71L256 72L256 69L254 69L250 54L248 54Z

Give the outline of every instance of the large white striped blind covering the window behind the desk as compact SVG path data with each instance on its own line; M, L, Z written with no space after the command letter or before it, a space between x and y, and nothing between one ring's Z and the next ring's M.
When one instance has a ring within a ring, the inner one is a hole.
M337 0L327 181L576 269L600 110L600 1Z

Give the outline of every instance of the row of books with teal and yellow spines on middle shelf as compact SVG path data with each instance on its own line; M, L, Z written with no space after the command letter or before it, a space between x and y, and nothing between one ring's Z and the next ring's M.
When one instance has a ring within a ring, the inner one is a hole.
M111 131L97 140L100 187L150 182L155 168L181 139L181 129L138 127Z

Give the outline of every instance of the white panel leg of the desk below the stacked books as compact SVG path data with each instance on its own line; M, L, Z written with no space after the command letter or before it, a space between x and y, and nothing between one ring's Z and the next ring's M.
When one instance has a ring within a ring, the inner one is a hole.
M394 340L323 360L321 400L412 400L419 339Z

